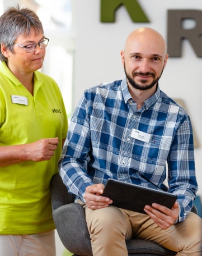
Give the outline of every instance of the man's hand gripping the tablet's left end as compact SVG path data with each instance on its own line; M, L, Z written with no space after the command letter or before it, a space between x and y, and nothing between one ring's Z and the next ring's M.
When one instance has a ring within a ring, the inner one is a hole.
M112 200L110 198L102 196L103 190L104 184L101 183L87 186L86 193L84 194L84 199L88 208L92 210L105 208L112 203Z

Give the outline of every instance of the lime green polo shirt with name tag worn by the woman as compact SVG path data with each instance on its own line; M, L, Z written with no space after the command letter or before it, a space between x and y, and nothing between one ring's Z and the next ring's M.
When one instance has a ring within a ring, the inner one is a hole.
M62 95L51 77L34 72L34 95L0 64L0 147L59 138L49 161L0 167L0 235L53 230L50 180L58 173L62 139L67 135Z

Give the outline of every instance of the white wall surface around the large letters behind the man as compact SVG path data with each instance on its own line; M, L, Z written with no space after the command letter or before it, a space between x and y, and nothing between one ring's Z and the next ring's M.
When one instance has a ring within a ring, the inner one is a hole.
M134 23L121 7L115 23L100 22L100 0L74 0L76 20L76 58L73 74L73 109L83 90L103 81L124 77L120 51L128 34L142 26L158 30L166 39L167 10L202 10L201 0L139 0L151 23ZM202 47L202 45L201 45ZM159 81L160 88L172 98L182 98L199 139L195 149L196 176L202 195L202 58L196 57L190 44L183 44L181 58L170 58Z

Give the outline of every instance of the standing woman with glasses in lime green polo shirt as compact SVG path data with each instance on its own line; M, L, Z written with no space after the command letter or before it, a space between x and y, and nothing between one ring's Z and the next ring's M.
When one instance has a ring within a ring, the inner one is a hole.
M0 256L55 255L50 180L68 124L58 85L37 71L48 42L33 11L0 17Z

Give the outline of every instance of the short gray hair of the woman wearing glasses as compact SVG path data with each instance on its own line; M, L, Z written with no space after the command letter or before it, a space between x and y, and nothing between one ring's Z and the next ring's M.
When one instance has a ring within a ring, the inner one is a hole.
M13 43L19 35L29 35L30 30L44 33L36 13L28 8L9 7L0 17L0 47L3 44L13 53ZM7 61L0 51L0 61Z

